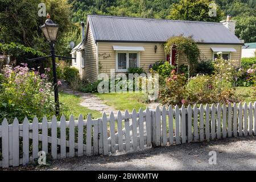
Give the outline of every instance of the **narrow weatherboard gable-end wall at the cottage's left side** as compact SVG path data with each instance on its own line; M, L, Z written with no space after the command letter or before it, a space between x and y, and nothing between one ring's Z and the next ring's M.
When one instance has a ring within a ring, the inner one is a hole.
M84 47L84 77L89 81L96 81L96 43L94 42L90 27L88 31L88 38Z

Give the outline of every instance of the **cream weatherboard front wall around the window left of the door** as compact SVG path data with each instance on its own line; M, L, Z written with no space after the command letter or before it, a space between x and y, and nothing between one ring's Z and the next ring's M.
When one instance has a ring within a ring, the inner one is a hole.
M131 46L144 47L145 51L139 51L139 67L142 67L146 72L149 71L150 64L154 64L157 60L164 60L165 53L162 44L159 43L113 43L99 42L98 43L98 61L99 73L110 74L110 69L115 69L115 51L113 46ZM155 46L158 47L155 53Z

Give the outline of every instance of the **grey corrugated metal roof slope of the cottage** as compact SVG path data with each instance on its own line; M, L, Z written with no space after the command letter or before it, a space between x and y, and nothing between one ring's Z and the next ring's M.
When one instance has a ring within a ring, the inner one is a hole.
M96 42L166 42L192 36L201 43L242 44L222 23L88 15Z

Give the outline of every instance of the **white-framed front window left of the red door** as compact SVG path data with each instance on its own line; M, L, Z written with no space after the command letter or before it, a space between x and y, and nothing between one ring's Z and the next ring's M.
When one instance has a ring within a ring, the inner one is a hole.
M115 65L117 72L127 72L128 68L136 68L139 66L139 53L117 52Z

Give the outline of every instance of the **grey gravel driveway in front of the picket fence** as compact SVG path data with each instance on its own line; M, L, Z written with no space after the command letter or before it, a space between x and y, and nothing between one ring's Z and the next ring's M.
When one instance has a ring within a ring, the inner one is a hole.
M209 151L217 152L210 165ZM43 170L255 170L256 137L226 138L205 143L147 148L112 156L55 160ZM40 168L39 170L42 170Z

